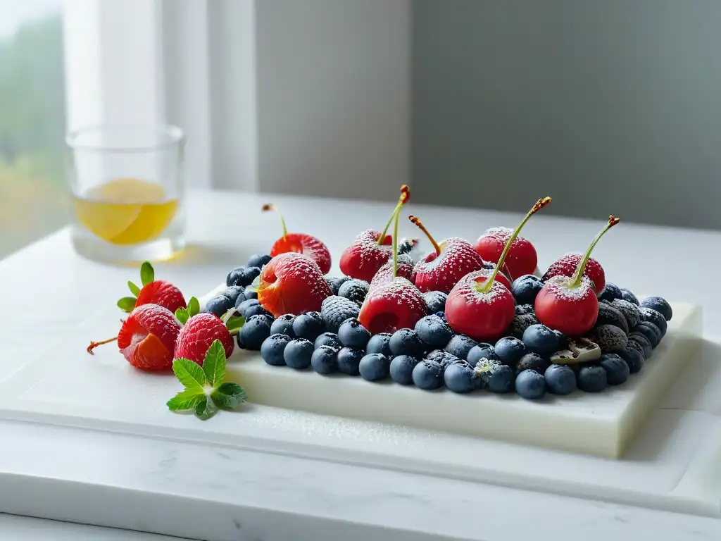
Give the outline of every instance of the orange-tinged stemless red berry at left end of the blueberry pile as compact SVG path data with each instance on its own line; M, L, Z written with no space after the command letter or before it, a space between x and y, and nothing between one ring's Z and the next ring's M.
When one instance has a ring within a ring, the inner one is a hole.
M297 253L276 255L260 271L258 302L275 317L320 312L330 286L314 260Z

